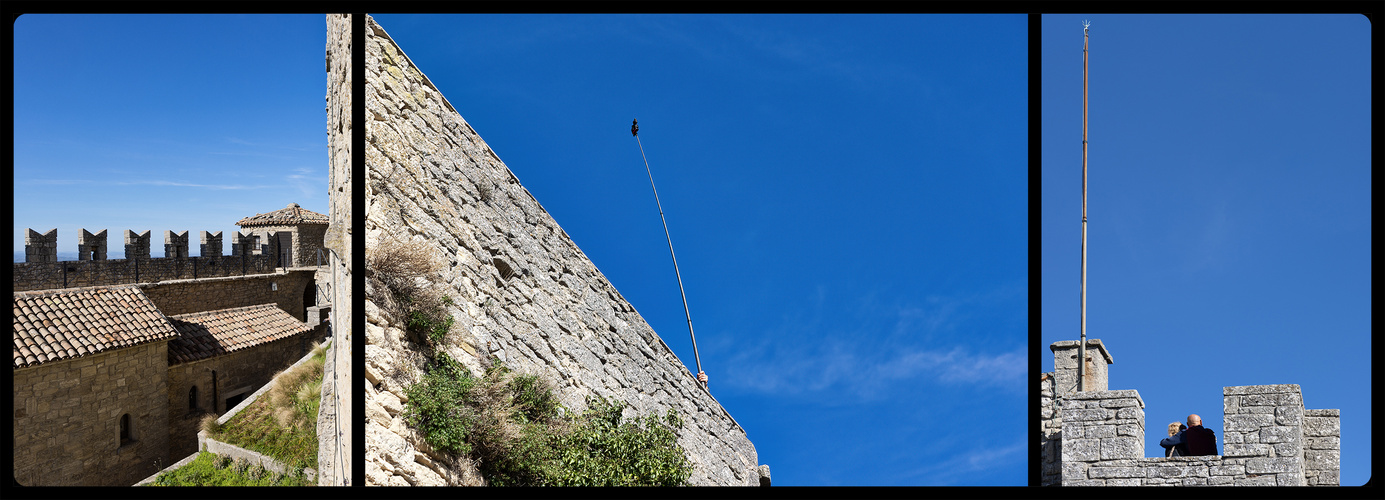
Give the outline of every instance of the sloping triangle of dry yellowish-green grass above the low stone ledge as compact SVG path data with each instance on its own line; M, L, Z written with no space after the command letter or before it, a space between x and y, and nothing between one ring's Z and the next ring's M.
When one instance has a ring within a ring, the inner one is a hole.
M307 363L281 374L274 388L224 425L206 425L208 434L288 467L317 468L317 407L325 348L325 343L319 346Z

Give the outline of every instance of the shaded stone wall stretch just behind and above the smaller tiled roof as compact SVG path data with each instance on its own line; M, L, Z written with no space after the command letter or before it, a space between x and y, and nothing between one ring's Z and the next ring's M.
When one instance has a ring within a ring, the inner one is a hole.
M292 270L227 278L144 283L138 287L163 316L273 303L299 321L307 323L303 289L313 284L314 274L312 270Z

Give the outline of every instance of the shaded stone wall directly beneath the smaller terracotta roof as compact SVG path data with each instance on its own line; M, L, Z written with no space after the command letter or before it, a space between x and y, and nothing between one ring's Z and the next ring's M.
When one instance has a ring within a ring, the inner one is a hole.
M169 456L175 460L197 453L197 431L202 416L224 413L227 395L255 392L274 375L307 355L323 339L325 325L269 343L229 355L180 363L169 367ZM216 385L212 373L216 371ZM188 393L197 386L197 409L188 409Z

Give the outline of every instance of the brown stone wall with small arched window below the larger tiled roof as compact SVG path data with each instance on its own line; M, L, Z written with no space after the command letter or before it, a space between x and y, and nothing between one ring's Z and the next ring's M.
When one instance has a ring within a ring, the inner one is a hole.
M169 461L168 341L14 371L14 479L129 486ZM134 440L120 445L120 416Z

